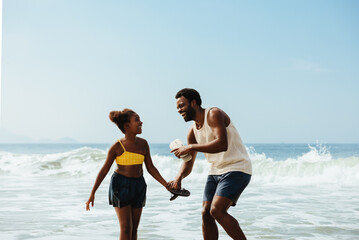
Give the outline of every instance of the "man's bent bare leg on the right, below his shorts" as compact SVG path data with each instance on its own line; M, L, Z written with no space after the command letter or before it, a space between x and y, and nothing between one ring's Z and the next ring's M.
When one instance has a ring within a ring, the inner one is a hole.
M242 232L237 220L228 214L227 210L232 205L232 200L226 197L214 196L210 213L218 221L227 234L235 240L247 239Z

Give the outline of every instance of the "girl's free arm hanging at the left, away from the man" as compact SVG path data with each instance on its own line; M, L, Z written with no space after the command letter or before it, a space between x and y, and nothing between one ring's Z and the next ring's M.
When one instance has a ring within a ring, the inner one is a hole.
M116 152L115 152L115 148L114 148L114 145L113 145L110 148L110 150L108 151L105 163L103 164L100 172L97 174L96 181L95 181L95 183L93 185L90 197L86 202L86 210L87 211L90 211L90 203L91 203L91 206L93 207L94 201L95 201L95 193L96 193L98 187L100 186L100 184L102 183L103 179L106 177L106 175L107 175L108 171L110 170L115 158L116 158Z

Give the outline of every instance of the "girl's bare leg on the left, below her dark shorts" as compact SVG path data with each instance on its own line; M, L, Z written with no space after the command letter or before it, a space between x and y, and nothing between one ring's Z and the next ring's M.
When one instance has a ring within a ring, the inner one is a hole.
M118 221L120 222L120 240L132 240L133 217L132 206L115 207Z

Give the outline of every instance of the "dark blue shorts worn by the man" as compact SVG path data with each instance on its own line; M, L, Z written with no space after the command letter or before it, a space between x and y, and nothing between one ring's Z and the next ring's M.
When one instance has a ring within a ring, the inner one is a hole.
M203 201L212 201L216 195L229 198L232 201L232 206L235 206L250 180L251 175L239 171L227 172L222 175L208 175Z

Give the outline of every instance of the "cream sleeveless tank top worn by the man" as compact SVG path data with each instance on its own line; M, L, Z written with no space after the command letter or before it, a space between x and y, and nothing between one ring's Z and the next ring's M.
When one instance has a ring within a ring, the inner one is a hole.
M207 123L207 115L210 108L204 112L204 123L202 128L197 129L193 124L193 132L197 143L205 144L214 140L211 127ZM204 153L204 156L211 163L209 175L221 175L230 171L241 171L252 175L252 164L241 137L232 121L226 127L228 138L227 151L220 153Z

